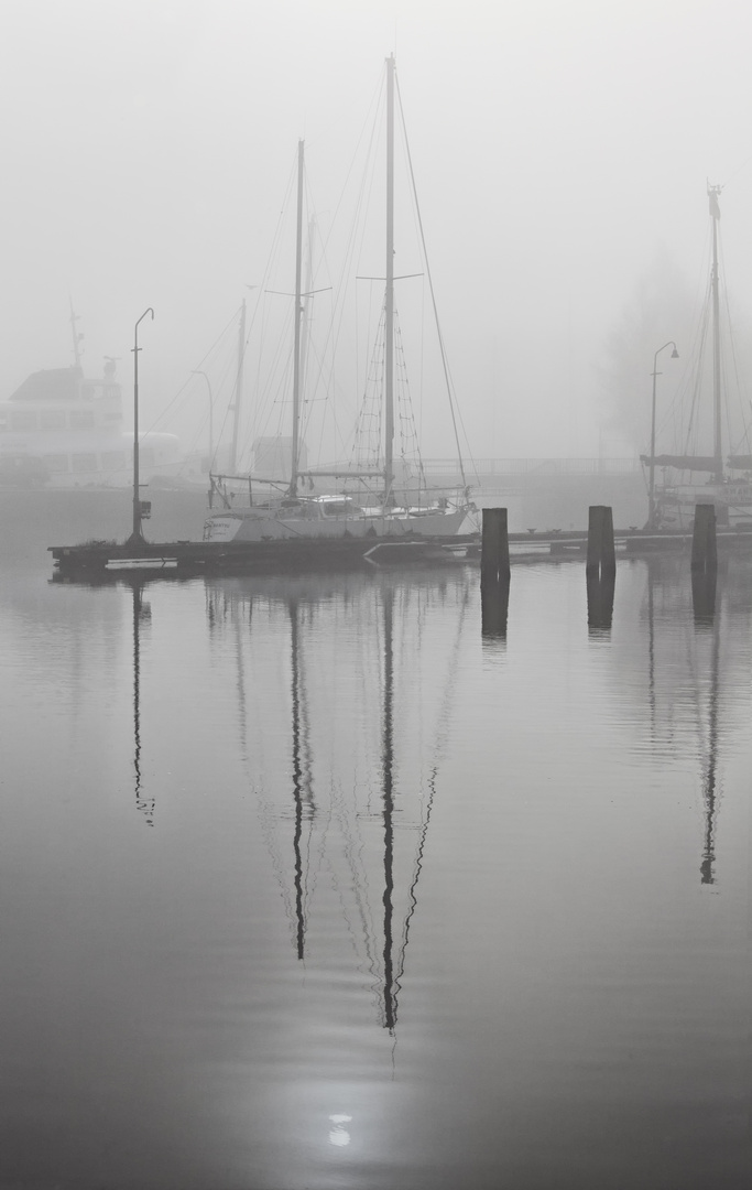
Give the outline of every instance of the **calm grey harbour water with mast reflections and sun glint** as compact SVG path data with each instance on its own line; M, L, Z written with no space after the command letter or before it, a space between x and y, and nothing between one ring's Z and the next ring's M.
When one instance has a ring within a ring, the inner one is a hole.
M0 578L0 1186L741 1190L752 568Z

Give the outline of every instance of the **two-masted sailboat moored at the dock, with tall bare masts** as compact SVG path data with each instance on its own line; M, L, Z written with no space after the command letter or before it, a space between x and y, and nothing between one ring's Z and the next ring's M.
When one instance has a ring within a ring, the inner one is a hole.
M211 476L209 503L212 512L203 527L205 541L268 541L299 538L374 538L374 537L451 537L458 533L465 516L474 511L469 502L462 459L459 471L462 489L458 496L438 496L426 501L425 484L418 491L407 489L399 474L395 450L395 301L394 301L394 108L395 60L387 58L387 234L386 234L386 293L384 327L384 403L383 433L380 458L366 468L339 466L331 470L301 468L301 375L302 375L302 207L303 207L303 142L297 148L297 219L295 257L295 321L293 351L293 427L289 441L290 474L276 482L281 494L253 502L252 476ZM238 401L236 400L236 407ZM422 468L420 469L422 474ZM337 491L327 495L303 495L300 490L305 477L345 484L359 481L357 495ZM233 480L243 480L242 505L231 490ZM257 481L258 482L258 481ZM269 482L267 478L263 482ZM370 487L369 487L370 486ZM376 486L376 487L374 487ZM214 509L214 500L220 507Z

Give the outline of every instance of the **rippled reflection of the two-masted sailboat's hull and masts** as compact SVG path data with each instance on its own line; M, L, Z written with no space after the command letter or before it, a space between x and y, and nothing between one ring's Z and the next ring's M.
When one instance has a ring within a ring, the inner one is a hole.
M347 937L378 1023L390 1035L397 1026L474 577L453 572L439 582L350 576L332 583L309 576L207 583L212 632L221 634L223 626L242 630L236 641L249 769L295 956L317 964L322 950L339 945L327 929ZM443 613L443 628L446 616L451 619L451 637L434 628L435 613ZM341 651L336 645L332 651L332 619L339 621ZM257 690L246 676L253 671L255 652L259 656L271 641L278 646L284 621L287 646L280 657L287 696L282 682L278 690ZM427 675L435 697L426 751L415 738L413 716L418 701L426 699ZM347 691L347 721L340 725L338 689ZM278 765L270 765L268 774L258 771L268 751L259 731L282 739L287 734L287 797L281 787L275 790ZM339 927L333 925L337 915Z

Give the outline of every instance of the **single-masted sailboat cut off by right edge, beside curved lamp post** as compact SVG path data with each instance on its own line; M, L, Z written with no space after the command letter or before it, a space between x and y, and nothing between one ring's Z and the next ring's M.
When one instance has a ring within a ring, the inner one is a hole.
M695 516L695 505L697 503L714 505L716 522L720 526L752 527L752 455L729 455L725 459L722 432L725 384L721 352L719 270L719 224L721 219L719 199L721 189L722 187L720 186L710 186L708 183L708 200L713 227L713 253L710 283L708 287L709 311L708 317L703 319L703 326L709 325L712 328L713 451L712 453L702 455L690 453L689 449L687 449L683 453L677 455L657 455L653 451L650 455L640 456L641 462L650 468L651 475L648 528L691 528ZM696 419L691 420L695 421ZM689 432L687 446L689 446ZM663 470L660 483L654 483L656 469ZM739 475L739 472L742 474ZM703 474L708 478L698 480L697 476Z

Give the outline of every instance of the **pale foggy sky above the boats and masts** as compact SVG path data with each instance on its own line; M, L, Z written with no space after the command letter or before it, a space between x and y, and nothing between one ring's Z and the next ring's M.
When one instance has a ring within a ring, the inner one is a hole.
M708 177L752 307L751 35L745 0L1 0L2 392L73 362L69 295L130 384L152 306L157 416L263 275L299 137L334 207L394 50L472 452L594 455L604 339L658 253L696 282Z

